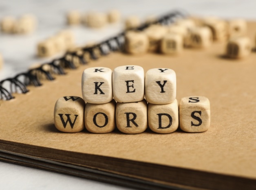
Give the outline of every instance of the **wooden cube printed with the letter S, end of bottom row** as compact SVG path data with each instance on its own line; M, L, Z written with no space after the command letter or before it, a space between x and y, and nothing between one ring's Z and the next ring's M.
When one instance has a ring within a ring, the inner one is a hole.
M210 101L203 96L188 96L179 102L179 124L183 131L198 133L210 127Z

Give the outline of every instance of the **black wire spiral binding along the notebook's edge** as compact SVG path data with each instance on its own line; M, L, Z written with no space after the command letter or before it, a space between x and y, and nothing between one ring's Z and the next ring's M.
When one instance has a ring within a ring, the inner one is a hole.
M173 23L177 18L182 18L185 16L186 14L182 13L181 11L172 11L169 14L161 16L157 21L145 23L139 26L138 28L132 28L129 30L143 31L145 28L148 28L148 26L150 26L151 24L168 25ZM99 50L100 56L108 55L108 53L117 50L123 50L125 43L125 33L126 31L119 33L115 37L110 37L109 39L102 41L99 44L82 48L82 54L78 54L77 52L66 52L66 54L59 59L53 59L51 62L44 63L38 68L28 70L27 72L19 73L13 78L8 78L0 81L0 99L11 100L14 98L14 96L12 95L13 93L26 94L27 92L29 92L29 90L26 87L27 85L32 84L36 87L41 86L42 83L40 82L38 73L44 76L44 78L46 78L47 80L52 81L55 79L53 77L53 74L66 74L64 68L76 69L77 66L74 64L73 61L75 58L78 58L81 64L86 64L89 61L85 59L85 54L89 55L89 59L98 59L95 53L96 49ZM71 61L66 58L67 56L71 57ZM45 65L49 66L50 69L44 69ZM6 83L9 83L10 85L9 91L3 87L3 85Z

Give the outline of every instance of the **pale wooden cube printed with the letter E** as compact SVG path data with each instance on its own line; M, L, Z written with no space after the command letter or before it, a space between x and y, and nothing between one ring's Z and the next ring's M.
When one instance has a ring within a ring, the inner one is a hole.
M144 99L144 70L140 66L119 66L113 71L113 95L120 103Z

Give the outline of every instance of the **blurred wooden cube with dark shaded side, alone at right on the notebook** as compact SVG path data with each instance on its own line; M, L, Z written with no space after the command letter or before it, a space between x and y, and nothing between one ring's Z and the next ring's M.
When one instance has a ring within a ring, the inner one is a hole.
M243 58L252 51L251 41L248 37L230 39L227 44L227 56L230 58Z

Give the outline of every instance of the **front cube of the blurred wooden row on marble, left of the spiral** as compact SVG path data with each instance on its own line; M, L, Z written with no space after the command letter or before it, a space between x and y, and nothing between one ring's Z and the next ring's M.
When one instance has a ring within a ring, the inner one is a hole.
M38 43L38 56L39 57L49 57L55 54L55 44L53 40L48 39Z

